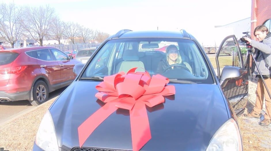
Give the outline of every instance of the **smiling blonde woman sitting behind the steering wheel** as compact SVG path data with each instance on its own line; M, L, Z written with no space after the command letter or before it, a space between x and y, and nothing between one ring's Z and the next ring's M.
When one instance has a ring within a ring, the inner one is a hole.
M173 64L176 64L176 66L169 67ZM162 74L168 70L183 69L185 67L189 70L189 72L192 72L191 66L182 61L178 48L175 45L169 45L166 48L166 58L162 59L158 64L157 73Z

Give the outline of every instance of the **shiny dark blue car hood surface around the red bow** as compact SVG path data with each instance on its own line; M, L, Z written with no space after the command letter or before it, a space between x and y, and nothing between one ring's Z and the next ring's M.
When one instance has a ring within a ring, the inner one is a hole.
M77 128L104 105L95 97L99 83L75 81L51 106L61 148L78 147ZM229 119L219 86L168 85L175 86L176 94L166 97L163 104L147 107L151 139L141 150L205 150L215 132ZM113 112L83 146L132 150L129 111Z

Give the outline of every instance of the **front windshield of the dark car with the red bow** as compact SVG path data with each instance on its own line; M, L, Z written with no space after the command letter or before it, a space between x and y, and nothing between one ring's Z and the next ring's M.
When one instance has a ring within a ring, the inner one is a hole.
M168 46L168 51L156 49ZM174 49L174 50L172 50ZM80 52L80 51L79 51ZM78 52L78 53L79 53ZM126 38L113 39L98 50L87 64L81 79L105 77L131 68L161 74L168 79L214 83L198 45L190 39Z

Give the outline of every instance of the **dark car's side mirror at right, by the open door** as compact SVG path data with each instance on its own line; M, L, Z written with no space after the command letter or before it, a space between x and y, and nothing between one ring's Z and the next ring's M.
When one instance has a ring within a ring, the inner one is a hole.
M222 70L221 77L219 83L221 87L225 87L227 82L234 78L241 77L240 68L234 66L225 66Z

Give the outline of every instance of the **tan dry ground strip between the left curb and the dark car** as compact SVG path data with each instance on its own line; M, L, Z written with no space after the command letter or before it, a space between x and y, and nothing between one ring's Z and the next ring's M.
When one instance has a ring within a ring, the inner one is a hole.
M12 151L31 151L41 119L55 99L53 98L35 110L1 125L0 147Z

